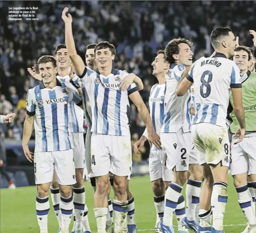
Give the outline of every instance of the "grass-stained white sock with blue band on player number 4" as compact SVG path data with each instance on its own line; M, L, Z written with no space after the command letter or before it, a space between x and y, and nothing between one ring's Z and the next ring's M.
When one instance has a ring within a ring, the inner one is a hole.
M128 201L113 200L113 209L115 212L115 233L123 232L127 228Z

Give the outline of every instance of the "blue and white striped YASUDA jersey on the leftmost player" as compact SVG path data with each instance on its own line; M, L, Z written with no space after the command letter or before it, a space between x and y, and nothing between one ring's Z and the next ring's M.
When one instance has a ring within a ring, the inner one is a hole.
M71 84L57 79L53 89L40 85L28 90L27 114L35 115L35 152L64 151L73 148L69 114L71 102L81 104L81 95Z

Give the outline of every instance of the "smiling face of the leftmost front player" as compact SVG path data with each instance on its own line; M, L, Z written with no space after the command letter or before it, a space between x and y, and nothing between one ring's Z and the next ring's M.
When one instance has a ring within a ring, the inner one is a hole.
M44 84L50 84L56 79L55 74L57 73L58 68L54 68L51 62L39 64L38 69Z

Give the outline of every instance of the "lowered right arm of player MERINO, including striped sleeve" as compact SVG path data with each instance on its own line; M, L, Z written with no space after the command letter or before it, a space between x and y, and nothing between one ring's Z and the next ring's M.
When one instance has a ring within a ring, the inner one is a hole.
M244 119L244 106L242 102L242 80L240 76L240 69L235 64L233 66L235 72L231 74L231 91L233 97L233 110L235 113L235 117L240 125L240 128L235 132L235 137L239 135L239 138L234 144L241 142L244 139L245 134L245 119Z

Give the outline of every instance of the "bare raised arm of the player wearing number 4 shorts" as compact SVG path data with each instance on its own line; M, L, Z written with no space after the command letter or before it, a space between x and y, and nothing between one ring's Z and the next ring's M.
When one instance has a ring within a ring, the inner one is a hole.
M77 75L81 76L86 68L82 58L77 54L77 50L74 44L74 38L72 34L72 17L70 14L66 16L68 11L68 7L65 7L62 11L61 18L65 23L65 44L67 47L67 53L70 56L72 61L72 65L77 73Z

